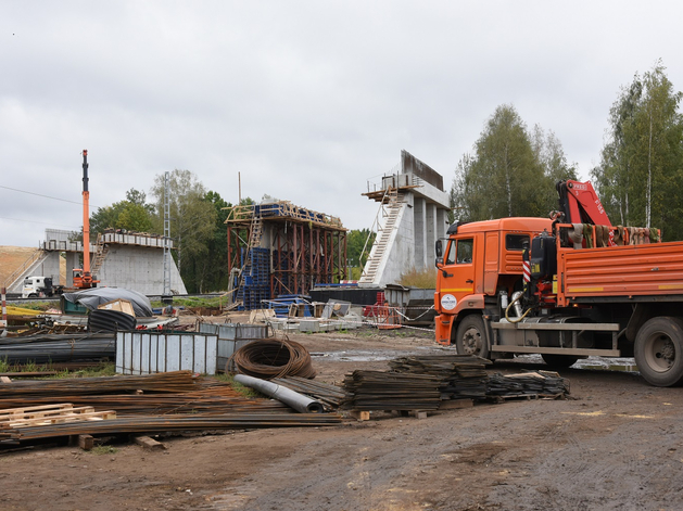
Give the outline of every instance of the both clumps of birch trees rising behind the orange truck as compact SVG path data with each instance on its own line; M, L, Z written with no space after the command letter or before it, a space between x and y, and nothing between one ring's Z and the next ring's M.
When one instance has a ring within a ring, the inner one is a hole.
M621 88L608 116L600 162L591 180L614 225L658 227L683 239L683 117L661 61ZM577 179L553 131L532 130L513 105L498 106L451 188L451 220L546 216L556 209L555 183Z

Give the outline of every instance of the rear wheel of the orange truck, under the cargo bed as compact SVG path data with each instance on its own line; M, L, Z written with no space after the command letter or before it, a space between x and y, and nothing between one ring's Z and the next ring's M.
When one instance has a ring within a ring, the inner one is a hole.
M633 355L647 383L679 385L683 382L683 321L668 316L646 321L635 336Z

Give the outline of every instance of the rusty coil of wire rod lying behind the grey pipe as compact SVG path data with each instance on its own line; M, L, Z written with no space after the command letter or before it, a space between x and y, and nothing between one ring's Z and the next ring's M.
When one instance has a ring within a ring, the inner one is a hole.
M254 341L235 352L227 368L231 362L237 372L263 380L288 375L313 379L316 374L307 349L294 341Z

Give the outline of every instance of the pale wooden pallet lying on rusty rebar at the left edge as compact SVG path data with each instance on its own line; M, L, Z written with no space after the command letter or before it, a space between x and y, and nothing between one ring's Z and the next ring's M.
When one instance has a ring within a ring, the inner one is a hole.
M74 407L71 403L62 403L0 410L0 430L109 419L116 419L116 412L112 410L94 411L93 407Z

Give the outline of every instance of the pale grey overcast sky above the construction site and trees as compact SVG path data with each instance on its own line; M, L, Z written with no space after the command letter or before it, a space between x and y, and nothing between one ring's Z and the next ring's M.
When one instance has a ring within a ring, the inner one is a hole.
M674 1L0 0L0 245L80 228L84 149L93 212L179 168L359 229L402 149L450 187L511 104L587 179L620 87L661 59L683 88L681 20Z

